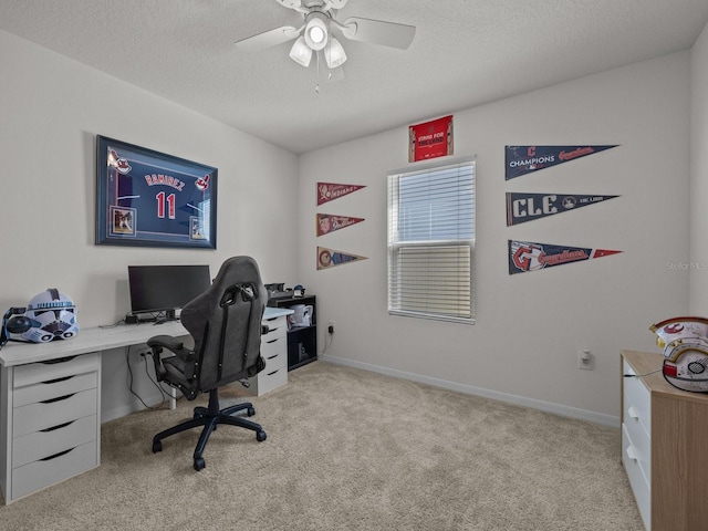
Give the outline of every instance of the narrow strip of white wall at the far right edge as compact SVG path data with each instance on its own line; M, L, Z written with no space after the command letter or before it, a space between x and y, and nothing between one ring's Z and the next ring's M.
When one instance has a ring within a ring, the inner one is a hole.
M708 316L708 24L691 51L690 313Z

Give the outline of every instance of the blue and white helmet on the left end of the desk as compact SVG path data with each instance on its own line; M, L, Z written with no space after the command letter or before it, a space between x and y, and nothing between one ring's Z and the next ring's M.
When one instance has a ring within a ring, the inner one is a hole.
M30 321L30 330L21 334L25 341L46 343L52 340L69 340L79 332L76 306L55 288L34 295L24 316Z

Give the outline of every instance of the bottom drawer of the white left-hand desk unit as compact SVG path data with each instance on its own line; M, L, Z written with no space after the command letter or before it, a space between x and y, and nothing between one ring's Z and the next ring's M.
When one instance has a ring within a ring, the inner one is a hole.
M93 440L53 458L18 467L12 470L10 498L17 500L96 466L98 466L98 446L97 441Z

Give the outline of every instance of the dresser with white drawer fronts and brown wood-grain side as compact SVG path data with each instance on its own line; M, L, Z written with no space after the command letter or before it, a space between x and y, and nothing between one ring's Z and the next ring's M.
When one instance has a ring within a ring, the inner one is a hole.
M622 351L622 462L647 530L708 530L708 395L677 389L658 353Z

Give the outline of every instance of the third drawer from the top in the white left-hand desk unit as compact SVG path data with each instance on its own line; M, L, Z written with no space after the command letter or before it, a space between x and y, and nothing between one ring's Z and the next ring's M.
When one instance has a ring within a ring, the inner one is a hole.
M12 414L12 434L17 439L40 429L52 428L81 417L98 414L96 389L86 389L73 395L15 407Z

